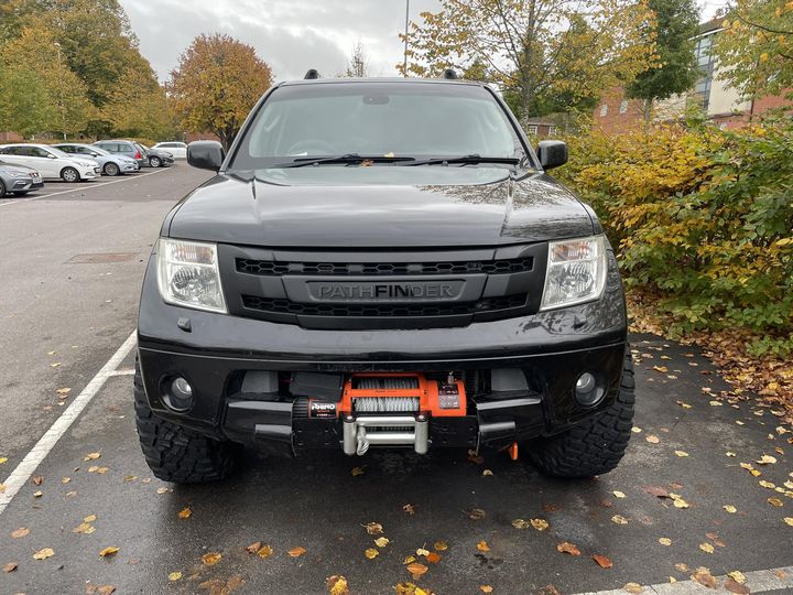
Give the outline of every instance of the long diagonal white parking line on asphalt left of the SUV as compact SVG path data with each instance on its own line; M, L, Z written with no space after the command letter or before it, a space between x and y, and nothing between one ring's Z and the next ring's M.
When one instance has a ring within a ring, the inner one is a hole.
M83 392L80 392L77 398L72 401L72 404L69 404L61 416L55 420L55 423L50 426L50 430L44 433L39 442L36 442L35 446L33 446L31 452L28 453L19 465L17 465L17 468L11 472L11 475L6 478L3 482L6 490L0 494L0 515L2 515L3 510L6 510L8 505L11 502L11 499L22 488L22 486L24 486L28 479L30 479L33 472L35 472L39 465L41 465L42 461L44 461L50 451L53 450L53 446L55 446L57 441L61 440L61 436L66 433L66 430L69 429L90 400L97 392L99 392L99 389L105 386L107 379L115 376L113 372L132 350L134 345L135 333L132 332L132 334L127 337L127 340L123 342L121 347L119 347L112 357L108 359L107 364L105 364L97 375L91 378L88 386L83 389Z

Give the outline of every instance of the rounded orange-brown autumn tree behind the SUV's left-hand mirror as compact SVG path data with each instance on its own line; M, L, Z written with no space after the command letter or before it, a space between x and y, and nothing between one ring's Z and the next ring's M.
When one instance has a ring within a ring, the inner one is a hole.
M253 47L229 35L198 35L171 72L167 90L185 130L217 134L228 149L248 112L272 85Z

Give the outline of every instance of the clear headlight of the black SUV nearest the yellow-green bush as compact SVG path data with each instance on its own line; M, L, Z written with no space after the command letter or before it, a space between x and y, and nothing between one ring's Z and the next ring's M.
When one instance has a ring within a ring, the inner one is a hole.
M605 236L548 242L545 288L540 310L597 300L605 284Z

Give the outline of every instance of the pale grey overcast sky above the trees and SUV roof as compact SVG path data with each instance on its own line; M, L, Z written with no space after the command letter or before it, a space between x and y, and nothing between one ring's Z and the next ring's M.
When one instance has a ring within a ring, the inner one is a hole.
M709 18L721 0L698 0ZM302 78L308 68L343 72L360 40L370 76L394 76L402 60L404 0L120 0L140 48L167 80L200 33L228 33L252 45L275 80ZM411 17L437 10L438 0L411 0Z

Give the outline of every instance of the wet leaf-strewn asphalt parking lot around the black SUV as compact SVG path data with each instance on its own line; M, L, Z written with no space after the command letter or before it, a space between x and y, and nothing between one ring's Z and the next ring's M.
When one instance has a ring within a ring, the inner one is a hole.
M634 433L598 479L461 451L152 478L130 334L160 221L206 178L178 164L0 199L0 593L793 592L791 429L654 336L632 337Z

